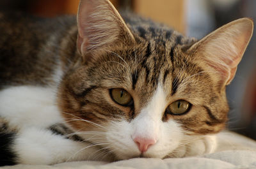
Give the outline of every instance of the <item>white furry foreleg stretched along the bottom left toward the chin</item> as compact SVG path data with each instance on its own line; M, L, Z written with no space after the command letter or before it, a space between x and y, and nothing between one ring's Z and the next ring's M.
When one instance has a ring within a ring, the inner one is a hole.
M51 165L66 161L101 160L109 156L99 147L88 142L76 142L49 130L38 128L22 129L13 143L17 163L30 165Z

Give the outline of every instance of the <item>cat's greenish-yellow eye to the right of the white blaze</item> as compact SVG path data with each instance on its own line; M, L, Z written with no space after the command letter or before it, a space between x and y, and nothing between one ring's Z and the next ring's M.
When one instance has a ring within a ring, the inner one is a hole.
M191 104L183 99L174 101L168 106L166 111L173 115L182 115L189 111Z

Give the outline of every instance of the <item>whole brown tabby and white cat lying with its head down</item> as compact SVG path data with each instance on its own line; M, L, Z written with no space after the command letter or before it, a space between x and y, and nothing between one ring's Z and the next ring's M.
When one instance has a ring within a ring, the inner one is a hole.
M195 40L108 0L77 20L1 13L1 166L214 152L252 32L241 18Z

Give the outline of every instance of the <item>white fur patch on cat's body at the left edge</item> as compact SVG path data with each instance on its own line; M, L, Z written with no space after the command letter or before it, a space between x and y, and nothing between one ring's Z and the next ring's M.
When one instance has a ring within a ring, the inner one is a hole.
M19 86L0 91L0 116L19 128L48 128L62 122L50 87Z

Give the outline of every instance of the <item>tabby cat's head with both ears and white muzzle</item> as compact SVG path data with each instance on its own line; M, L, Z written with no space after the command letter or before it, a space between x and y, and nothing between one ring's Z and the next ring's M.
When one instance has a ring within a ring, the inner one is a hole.
M77 21L81 61L63 77L58 103L74 131L88 131L85 140L118 159L164 158L189 137L225 127L225 87L252 20L193 43L166 28L125 24L107 0L82 0Z

